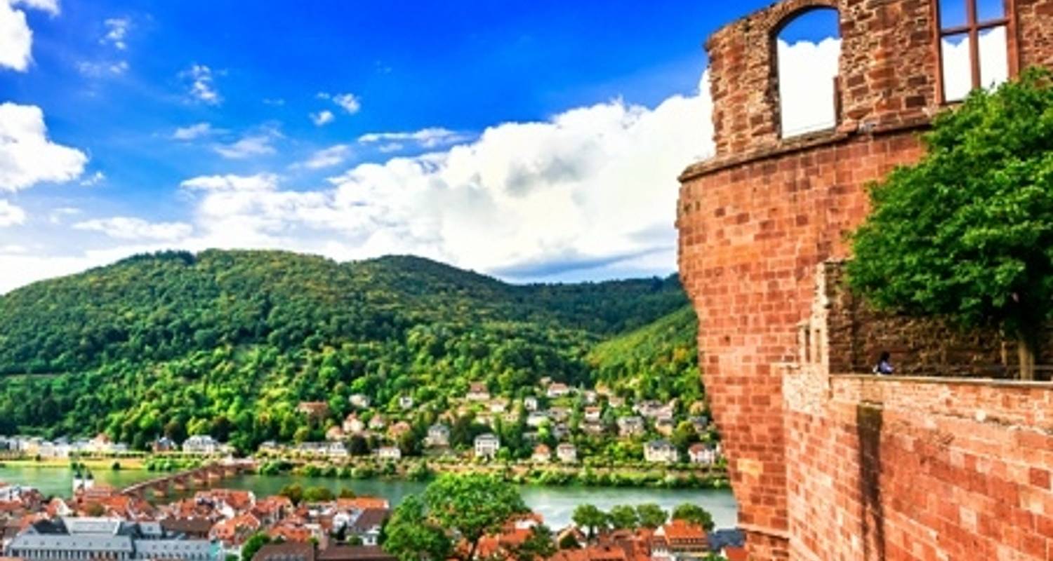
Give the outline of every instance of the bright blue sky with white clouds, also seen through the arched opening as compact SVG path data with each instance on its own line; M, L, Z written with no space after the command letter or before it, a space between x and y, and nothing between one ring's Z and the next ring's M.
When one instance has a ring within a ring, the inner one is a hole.
M0 293L163 248L671 274L702 41L767 4L0 0ZM780 38L788 129L831 14Z

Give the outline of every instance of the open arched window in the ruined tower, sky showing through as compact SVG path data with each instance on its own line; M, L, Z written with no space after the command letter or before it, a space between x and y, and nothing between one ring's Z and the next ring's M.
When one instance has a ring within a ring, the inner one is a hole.
M798 15L782 26L776 42L782 138L836 126L841 54L837 11L814 8Z

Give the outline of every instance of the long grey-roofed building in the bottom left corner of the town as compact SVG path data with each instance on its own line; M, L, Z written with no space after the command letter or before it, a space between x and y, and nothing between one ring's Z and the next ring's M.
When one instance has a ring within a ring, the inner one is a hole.
M4 555L25 561L222 559L220 549L208 540L167 530L158 522L136 523L110 518L37 521L11 540Z

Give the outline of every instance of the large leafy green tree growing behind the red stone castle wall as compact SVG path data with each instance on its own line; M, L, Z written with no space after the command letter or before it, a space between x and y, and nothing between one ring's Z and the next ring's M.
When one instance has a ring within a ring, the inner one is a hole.
M1000 327L1025 379L1053 310L1051 82L1028 71L940 114L921 160L871 186L848 265L879 308Z

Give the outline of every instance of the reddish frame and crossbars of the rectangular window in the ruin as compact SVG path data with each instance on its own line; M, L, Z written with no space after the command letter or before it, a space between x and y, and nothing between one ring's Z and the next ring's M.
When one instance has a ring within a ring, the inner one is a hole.
M966 24L943 27L939 4L942 0L930 0L932 5L932 31L935 37L936 49L936 95L940 105L960 103L962 100L948 100L947 88L943 84L943 38L953 35L967 34L969 36L969 68L973 87L970 91L981 87L980 77L980 32L993 29L995 27L1006 27L1006 54L1008 58L1009 78L1016 78L1019 74L1019 59L1017 57L1016 41L1016 0L1002 0L1005 5L1005 16L998 19L977 21L976 4L979 0L950 0L966 2Z

